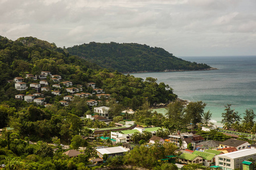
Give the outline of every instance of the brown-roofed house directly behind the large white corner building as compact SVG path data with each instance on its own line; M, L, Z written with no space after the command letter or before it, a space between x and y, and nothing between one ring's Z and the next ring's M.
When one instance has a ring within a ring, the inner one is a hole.
M240 141L237 139L228 139L220 143L220 148L226 147L236 147L237 150L242 150L250 147L250 144L247 141Z

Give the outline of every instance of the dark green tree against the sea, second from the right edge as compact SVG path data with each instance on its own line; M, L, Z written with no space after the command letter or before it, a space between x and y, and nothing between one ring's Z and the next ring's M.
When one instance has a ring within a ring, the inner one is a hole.
M240 114L235 112L234 109L231 109L230 107L231 104L225 105L225 112L221 114L221 123L225 124L226 128L230 128L234 122L241 120Z

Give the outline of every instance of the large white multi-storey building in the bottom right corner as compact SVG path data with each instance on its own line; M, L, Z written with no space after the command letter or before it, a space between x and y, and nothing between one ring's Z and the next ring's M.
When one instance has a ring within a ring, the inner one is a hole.
M216 156L216 165L221 169L242 169L242 163L252 158L256 160L256 149L243 149Z

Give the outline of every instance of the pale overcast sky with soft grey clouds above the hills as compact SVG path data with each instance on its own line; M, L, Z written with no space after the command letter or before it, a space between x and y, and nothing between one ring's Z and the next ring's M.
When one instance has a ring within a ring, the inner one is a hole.
M0 0L0 35L58 47L135 42L174 56L256 55L255 0Z

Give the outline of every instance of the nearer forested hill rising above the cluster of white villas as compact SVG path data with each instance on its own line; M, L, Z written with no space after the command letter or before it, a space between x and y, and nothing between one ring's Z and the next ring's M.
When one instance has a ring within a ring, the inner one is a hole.
M119 101L123 107L137 109L145 100L150 104L167 103L176 99L172 88L164 83L156 83L155 79L135 78L131 75L123 75L118 71L109 71L96 63L91 63L77 56L71 56L67 49L57 48L54 43L36 39L35 37L21 37L12 41L0 36L0 104L5 101L12 107L22 105L15 100L15 95L32 95L35 90L30 88L30 83L39 83L39 79L26 79L26 74L40 75L41 71L50 71L52 75L60 75L64 80L73 84L82 84L82 92L90 92L86 83L96 83L96 88L102 88L106 94L110 94ZM28 89L26 91L15 90L14 82L7 83L15 77L24 78ZM54 82L47 79L49 87ZM60 83L61 83L60 82ZM68 95L65 88L61 88L61 96L51 95L46 97L49 104L55 104ZM42 92L43 93L43 92ZM47 95L47 94L46 94ZM97 96L92 99L98 100ZM10 102L11 101L11 102ZM24 101L23 101L24 104ZM26 102L25 102L26 105Z

